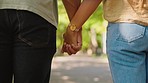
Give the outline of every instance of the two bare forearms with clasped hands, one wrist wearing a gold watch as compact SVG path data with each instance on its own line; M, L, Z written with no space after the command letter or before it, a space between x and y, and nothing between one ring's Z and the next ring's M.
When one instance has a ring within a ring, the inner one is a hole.
M69 55L77 53L82 46L82 25L96 10L101 0L62 0L70 23L64 33L62 52Z

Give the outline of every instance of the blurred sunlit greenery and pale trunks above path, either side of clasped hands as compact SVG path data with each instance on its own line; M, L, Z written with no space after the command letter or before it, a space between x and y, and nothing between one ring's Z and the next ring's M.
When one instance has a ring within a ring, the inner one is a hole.
M57 30L57 48L58 53L63 44L63 33L65 32L69 19L66 14L65 8L61 0L58 1L58 12L59 12L59 26ZM88 10L89 11L89 10ZM102 5L100 5L94 14L88 19L83 26L83 46L81 49L82 53L94 54L96 56L105 53L105 34L107 22L103 19ZM78 19L79 20L79 19ZM57 54L58 54L57 53Z

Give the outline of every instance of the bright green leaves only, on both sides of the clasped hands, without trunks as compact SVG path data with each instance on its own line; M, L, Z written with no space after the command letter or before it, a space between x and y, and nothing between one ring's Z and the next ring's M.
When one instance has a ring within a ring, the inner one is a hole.
M58 12L59 12L59 25L57 30L57 47L61 48L63 41L63 33L69 23L65 8L61 0L58 1ZM99 48L102 44L102 33L105 32L105 23L103 19L102 5L100 5L93 15L87 20L83 26L83 46L82 50L87 50L90 46L90 28L94 28L97 34L97 42Z

